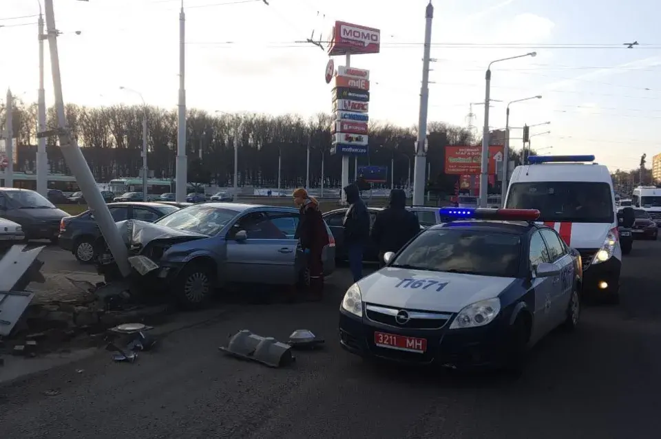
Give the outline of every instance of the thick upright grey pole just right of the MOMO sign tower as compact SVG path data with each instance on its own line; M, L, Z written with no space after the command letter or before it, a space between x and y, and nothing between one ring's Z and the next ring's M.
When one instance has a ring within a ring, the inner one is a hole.
M422 60L422 86L420 88L420 114L418 119L418 141L415 145L415 162L413 171L413 205L425 203L425 171L427 145L427 109L429 105L429 63L432 43L432 19L434 6L430 0L425 10L425 48Z

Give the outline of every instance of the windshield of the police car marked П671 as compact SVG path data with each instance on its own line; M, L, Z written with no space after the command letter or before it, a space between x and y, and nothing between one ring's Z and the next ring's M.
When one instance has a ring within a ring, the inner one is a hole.
M507 233L443 228L415 238L391 266L410 270L516 277L521 237Z

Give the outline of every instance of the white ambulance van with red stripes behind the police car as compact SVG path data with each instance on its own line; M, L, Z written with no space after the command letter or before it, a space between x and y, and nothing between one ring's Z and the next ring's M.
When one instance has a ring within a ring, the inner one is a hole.
M567 246L580 253L583 291L616 303L622 249L608 168L594 156L531 156L507 188L506 208L535 208Z

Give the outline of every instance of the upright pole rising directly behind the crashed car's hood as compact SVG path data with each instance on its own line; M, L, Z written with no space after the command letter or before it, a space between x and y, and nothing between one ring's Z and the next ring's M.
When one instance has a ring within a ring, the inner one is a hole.
M179 103L177 122L177 160L176 160L176 200L186 201L186 189L188 187L188 164L186 158L186 14L184 12L184 0L181 0L179 12Z

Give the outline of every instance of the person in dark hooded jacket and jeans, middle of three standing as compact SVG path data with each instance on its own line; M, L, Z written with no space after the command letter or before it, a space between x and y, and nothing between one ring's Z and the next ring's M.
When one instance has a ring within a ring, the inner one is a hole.
M363 253L370 239L370 213L356 184L349 184L344 188L346 209L342 228L344 228L344 244L349 257L349 268L353 281L357 282L363 277Z

